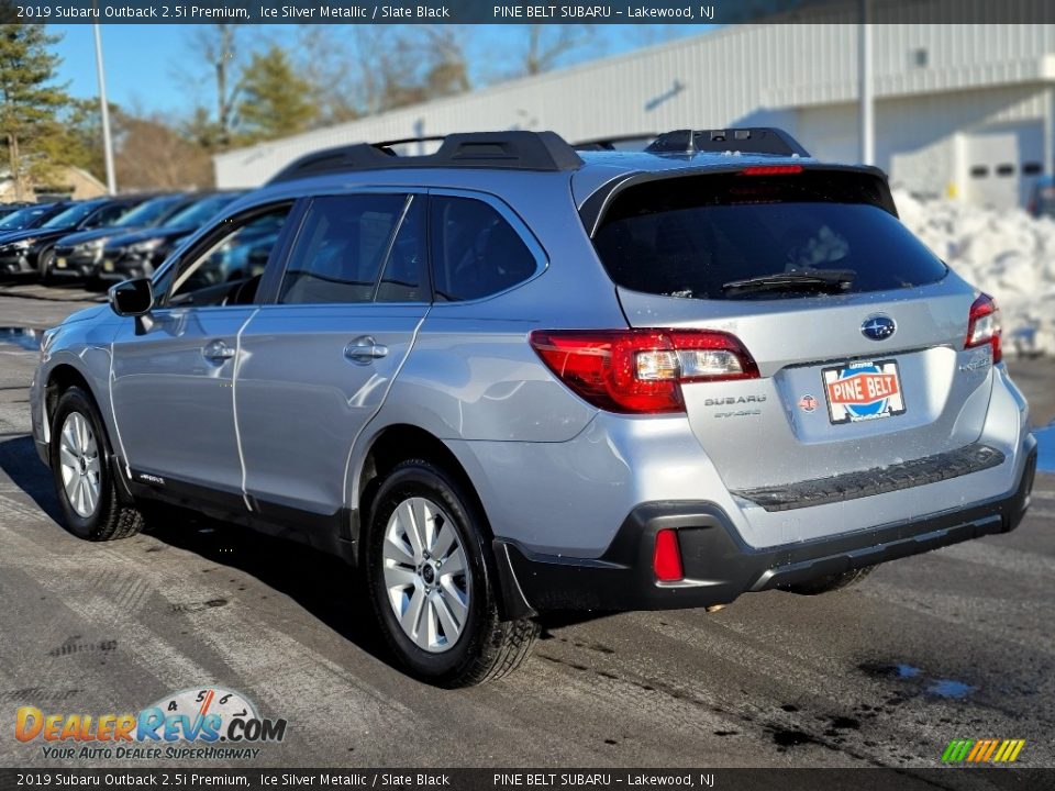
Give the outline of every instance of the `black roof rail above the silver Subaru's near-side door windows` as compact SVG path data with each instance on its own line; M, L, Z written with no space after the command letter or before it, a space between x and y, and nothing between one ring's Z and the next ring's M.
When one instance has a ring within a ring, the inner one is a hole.
M435 154L403 157L392 146L442 140ZM410 137L357 143L308 154L282 168L268 183L335 172L402 167L492 168L499 170L577 170L582 159L555 132L460 132L445 137Z

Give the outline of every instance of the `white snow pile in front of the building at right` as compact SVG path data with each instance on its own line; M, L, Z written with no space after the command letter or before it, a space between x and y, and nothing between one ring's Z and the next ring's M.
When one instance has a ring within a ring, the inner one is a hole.
M1021 209L921 202L896 191L901 220L956 272L1000 305L1003 348L1055 355L1055 221Z

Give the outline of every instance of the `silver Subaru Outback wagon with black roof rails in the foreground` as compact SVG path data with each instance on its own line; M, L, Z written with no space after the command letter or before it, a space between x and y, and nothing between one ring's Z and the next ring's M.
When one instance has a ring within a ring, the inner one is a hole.
M71 532L160 501L362 569L444 686L552 610L821 593L1014 528L1036 443L997 307L881 171L770 129L307 156L48 331Z

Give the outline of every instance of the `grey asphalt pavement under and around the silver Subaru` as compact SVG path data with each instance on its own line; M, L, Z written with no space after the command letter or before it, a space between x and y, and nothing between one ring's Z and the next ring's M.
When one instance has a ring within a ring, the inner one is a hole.
M888 564L858 588L551 617L519 673L437 690L392 667L335 559L175 510L110 544L59 526L29 436L34 341L3 327L98 299L0 286L0 766L90 766L15 740L19 706L120 714L198 688L288 721L256 759L210 767L917 769L954 738L1025 739L1018 765L1055 766L1055 476L1037 478L1018 531ZM1012 370L1051 422L1055 364Z

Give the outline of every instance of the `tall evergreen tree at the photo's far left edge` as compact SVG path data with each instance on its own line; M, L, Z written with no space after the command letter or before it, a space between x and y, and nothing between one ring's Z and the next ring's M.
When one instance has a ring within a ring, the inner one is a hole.
M48 51L59 38L42 24L0 25L0 144L15 199L31 178L46 178L62 148L57 114L69 98L53 83L59 58Z

